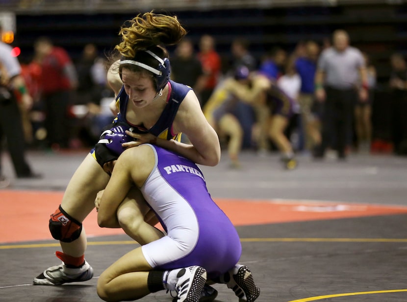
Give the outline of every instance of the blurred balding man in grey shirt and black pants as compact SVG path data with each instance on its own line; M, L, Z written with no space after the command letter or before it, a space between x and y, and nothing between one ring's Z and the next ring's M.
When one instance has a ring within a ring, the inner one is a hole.
M315 73L315 96L325 106L322 142L314 157L324 157L326 149L333 147L338 158L345 159L356 101L367 101L369 88L363 55L349 45L348 33L336 30L332 38L333 46L322 51Z

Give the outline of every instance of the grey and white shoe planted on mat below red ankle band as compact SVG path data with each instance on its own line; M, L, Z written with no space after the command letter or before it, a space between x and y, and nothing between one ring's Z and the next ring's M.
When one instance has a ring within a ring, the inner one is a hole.
M79 268L68 268L61 265L51 266L33 280L34 285L61 285L70 282L82 282L93 277L93 268L88 262Z

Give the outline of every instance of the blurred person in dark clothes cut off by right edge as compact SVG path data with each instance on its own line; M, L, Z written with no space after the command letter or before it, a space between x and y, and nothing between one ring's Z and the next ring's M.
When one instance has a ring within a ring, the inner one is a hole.
M407 155L407 63L401 53L390 57L391 137L394 152Z

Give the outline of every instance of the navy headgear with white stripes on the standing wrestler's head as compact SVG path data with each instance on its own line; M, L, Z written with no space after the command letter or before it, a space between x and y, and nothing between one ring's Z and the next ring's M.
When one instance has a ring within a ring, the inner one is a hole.
M146 54L152 56L155 60L158 61L158 64L155 66L150 66L146 64ZM149 70L153 72L154 78L156 80L156 92L160 92L161 89L167 85L168 81L170 80L170 73L171 73L171 65L170 60L168 58L161 59L151 50L139 50L136 52L133 58L128 58L122 56L120 59L120 65L123 64L132 64L144 68L145 70Z

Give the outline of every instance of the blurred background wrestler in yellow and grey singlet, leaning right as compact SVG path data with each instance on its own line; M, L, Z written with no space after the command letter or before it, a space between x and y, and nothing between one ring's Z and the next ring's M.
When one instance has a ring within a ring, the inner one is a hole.
M235 70L233 77L242 85L247 85L249 72L246 66L241 66ZM225 141L228 145L230 166L233 168L240 167L239 154L242 149L244 131L251 132L254 124L253 110L247 111L245 115L251 118L251 123L249 129L243 129L239 120L241 112L239 104L241 103L238 97L229 93L224 85L220 84L203 107L203 114L218 133L221 142ZM249 133L249 137L251 137L251 133Z

